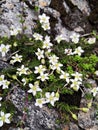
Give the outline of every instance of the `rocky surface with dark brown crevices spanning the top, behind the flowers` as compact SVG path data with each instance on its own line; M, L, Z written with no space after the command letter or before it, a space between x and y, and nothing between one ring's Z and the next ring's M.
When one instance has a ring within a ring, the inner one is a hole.
M34 6L39 6L39 11L34 11ZM40 12L46 12L51 17L54 27L52 33L54 30L56 34L64 35L70 35L72 31L87 33L94 22L91 17L94 10L91 7L92 2L87 0L1 0L0 36L10 36L10 29L14 27L26 27L24 33L32 36ZM20 22L21 17L24 24ZM57 27L62 27L61 31Z

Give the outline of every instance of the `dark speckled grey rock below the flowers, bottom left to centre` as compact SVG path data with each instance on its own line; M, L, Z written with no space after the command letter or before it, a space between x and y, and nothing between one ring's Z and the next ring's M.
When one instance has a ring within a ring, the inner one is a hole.
M53 109L43 107L40 109L34 105L34 101L25 101L26 93L20 88L15 88L11 94L10 100L15 107L24 115L24 109L27 109L25 113L25 126L30 130L55 130L60 128L56 124L58 114Z

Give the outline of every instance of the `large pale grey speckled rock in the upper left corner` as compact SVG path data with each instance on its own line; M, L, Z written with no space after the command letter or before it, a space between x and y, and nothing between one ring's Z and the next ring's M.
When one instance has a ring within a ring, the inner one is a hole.
M25 30L25 34L32 35L34 21L37 19L37 13L28 8L28 6L19 0L6 0L1 5L2 14L0 16L0 36L10 36L11 27L17 27ZM25 19L24 24L20 22L21 17Z

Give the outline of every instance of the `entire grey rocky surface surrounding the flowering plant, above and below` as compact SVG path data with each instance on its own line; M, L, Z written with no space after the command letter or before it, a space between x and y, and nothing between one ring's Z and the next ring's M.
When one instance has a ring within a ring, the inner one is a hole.
M39 6L35 11L34 6ZM97 0L1 0L0 1L0 36L10 37L12 28L24 27L24 33L32 36L33 29L38 19L38 14L45 12L50 16L51 33L55 35L63 34L69 41L69 36L73 31L84 34L93 29L98 29L98 1ZM24 23L20 22L23 20ZM9 65L5 60L0 60L0 70ZM93 85L96 85L94 81ZM89 90L88 90L89 91ZM23 121L24 130L57 130L62 126L56 124L59 114L54 109L35 107L34 101L26 100L26 93L20 88L15 88L11 94L10 101L17 108L17 119L13 122ZM87 106L85 95L82 96L80 107ZM71 122L62 130L98 130L98 120L96 117L96 104L98 95L93 100L93 107L87 113L79 111L78 123ZM25 108L28 114L24 112ZM19 112L19 113L18 113ZM6 129L5 129L6 130ZM20 130L10 127L9 130Z

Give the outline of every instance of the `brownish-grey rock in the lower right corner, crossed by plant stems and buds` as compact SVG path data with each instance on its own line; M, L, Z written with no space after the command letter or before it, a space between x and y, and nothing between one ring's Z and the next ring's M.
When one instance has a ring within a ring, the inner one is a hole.
M87 82L89 82L93 87L97 87L97 84L95 80L88 79ZM86 89L85 93L90 92L90 89ZM93 130L98 126L98 119L97 119L97 104L98 104L98 94L96 95L94 100L87 100L85 95L83 95L80 103L80 107L87 107L88 103L92 103L91 108L88 112L79 111L78 113L78 125L82 129L86 130ZM98 127L97 127L98 128ZM97 130L97 129L96 129Z

